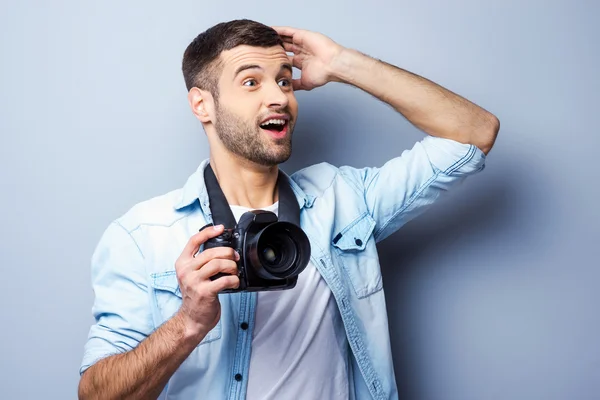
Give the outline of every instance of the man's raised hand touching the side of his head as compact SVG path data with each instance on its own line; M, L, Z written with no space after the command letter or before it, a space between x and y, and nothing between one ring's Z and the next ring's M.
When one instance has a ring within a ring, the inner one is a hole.
M290 56L292 65L301 71L294 79L294 90L312 90L328 82L338 81L335 65L344 47L327 36L287 26L273 26Z

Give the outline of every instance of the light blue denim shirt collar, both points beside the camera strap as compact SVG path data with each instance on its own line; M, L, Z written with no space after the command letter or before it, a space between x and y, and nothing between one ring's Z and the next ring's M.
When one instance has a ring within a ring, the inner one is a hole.
M206 184L204 183L204 168L208 165L210 159L205 159L200 163L200 166L187 180L183 189L181 190L181 196L175 203L173 208L180 210L184 207L192 205L196 200L199 201L200 207L205 214L211 214L210 205L208 201L208 192L206 191ZM300 209L303 207L312 207L315 196L307 194L302 190L300 186L293 179L290 178L285 172L280 170L283 175L288 178L290 186L296 195Z

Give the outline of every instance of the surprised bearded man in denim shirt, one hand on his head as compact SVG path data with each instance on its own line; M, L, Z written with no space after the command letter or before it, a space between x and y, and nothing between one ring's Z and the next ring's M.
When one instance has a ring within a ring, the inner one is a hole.
M397 398L376 242L483 169L497 118L319 33L248 20L200 34L183 73L210 159L182 189L136 205L102 236L79 397ZM199 252L223 232L198 232L212 223L208 163L236 218L277 213L294 90L332 81L387 102L428 136L381 168L323 163L285 176L310 239L309 265L293 289L220 293L238 287L239 255ZM226 275L210 279L217 273Z

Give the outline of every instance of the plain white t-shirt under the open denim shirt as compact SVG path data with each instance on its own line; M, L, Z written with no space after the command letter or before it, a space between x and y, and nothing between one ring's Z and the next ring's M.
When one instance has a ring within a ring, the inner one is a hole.
M277 214L279 203L264 208ZM236 221L249 208L231 206ZM293 289L258 292L249 400L348 399L348 341L331 290L310 262Z

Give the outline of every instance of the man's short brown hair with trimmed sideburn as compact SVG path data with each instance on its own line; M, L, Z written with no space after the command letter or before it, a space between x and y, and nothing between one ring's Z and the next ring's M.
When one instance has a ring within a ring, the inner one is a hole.
M198 87L218 97L218 58L221 52L241 45L283 47L283 41L273 28L248 19L221 22L207 29L196 36L183 54L181 69L187 90Z

